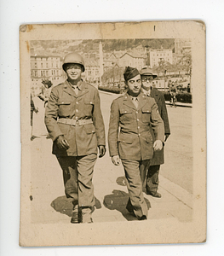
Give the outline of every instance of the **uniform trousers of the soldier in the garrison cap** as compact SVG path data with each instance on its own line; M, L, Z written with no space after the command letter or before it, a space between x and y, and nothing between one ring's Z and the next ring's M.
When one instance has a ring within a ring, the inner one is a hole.
M128 181L129 201L127 207L133 208L135 216L141 218L147 216L147 205L144 200L142 185L146 180L146 171L150 160L122 160L125 177Z

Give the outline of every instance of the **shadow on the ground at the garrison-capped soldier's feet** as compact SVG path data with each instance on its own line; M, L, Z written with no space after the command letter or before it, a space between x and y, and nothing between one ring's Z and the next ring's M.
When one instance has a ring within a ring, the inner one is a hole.
M129 194L121 190L113 190L112 195L106 195L104 197L103 205L109 210L117 210L121 212L123 217L128 221L136 220L137 218L133 213L128 212L126 209L129 200ZM147 208L151 207L150 201L145 198Z

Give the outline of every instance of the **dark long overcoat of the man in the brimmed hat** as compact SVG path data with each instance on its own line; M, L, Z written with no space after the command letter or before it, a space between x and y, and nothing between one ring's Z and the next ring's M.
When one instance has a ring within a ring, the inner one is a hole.
M152 97L157 103L158 113L164 121L164 133L170 134L168 113L163 93L155 88L152 88L150 97ZM164 164L164 148L161 151L155 151L152 160L150 161L150 166L158 166L162 164Z

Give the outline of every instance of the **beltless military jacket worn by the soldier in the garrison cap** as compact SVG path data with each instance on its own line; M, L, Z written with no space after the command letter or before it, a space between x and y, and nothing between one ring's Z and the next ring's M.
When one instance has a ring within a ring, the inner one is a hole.
M153 154L153 138L164 142L164 122L154 99L141 93L138 108L128 94L112 102L108 133L110 155L122 160L149 160Z

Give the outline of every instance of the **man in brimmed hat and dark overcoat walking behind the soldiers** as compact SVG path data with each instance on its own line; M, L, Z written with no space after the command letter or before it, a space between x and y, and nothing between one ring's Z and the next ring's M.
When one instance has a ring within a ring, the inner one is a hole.
M152 81L157 75L152 72L152 69L148 67L143 67L141 69L141 81L142 81L142 92L149 97L154 98L155 102L158 105L158 113L164 121L164 141L170 135L169 130L169 119L166 109L166 104L164 101L164 95L162 92L152 87ZM152 134L153 136L153 134ZM152 195L154 197L161 197L161 194L158 193L158 173L160 165L164 164L164 147L160 151L155 151L153 158L150 161L150 166L146 175L146 194ZM144 188L145 189L145 188Z

